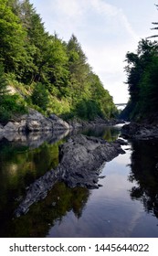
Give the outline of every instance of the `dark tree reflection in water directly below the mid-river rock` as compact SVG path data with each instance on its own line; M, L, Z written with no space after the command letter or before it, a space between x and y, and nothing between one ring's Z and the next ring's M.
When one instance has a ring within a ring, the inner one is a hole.
M25 216L13 219L5 227L5 237L46 237L48 229L73 211L76 218L82 215L90 191L84 187L69 188L56 184L44 200L33 205Z

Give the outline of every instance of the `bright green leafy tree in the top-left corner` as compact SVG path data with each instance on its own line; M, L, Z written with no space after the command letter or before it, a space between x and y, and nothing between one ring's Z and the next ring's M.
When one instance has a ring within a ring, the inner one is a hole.
M8 3L0 0L0 60L6 72L17 71L26 55L26 31Z

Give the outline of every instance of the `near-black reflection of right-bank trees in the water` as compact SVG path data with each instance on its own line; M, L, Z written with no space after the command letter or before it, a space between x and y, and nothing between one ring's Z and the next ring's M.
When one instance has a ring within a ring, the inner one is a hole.
M132 200L140 200L146 212L158 218L158 141L132 142L132 171L129 180L136 180L132 187Z

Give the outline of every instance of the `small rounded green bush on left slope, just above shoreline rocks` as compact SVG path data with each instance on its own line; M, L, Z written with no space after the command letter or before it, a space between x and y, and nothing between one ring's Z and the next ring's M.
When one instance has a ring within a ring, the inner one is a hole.
M31 99L33 104L40 107L42 110L47 110L47 104L48 104L48 93L45 88L45 86L38 82L34 88L34 91L31 95Z

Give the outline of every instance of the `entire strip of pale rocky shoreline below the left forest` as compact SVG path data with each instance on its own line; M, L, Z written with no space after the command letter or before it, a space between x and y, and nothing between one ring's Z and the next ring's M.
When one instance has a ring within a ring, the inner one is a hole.
M14 138L18 133L57 133L58 131L63 131L64 133L65 131L76 130L79 128L111 126L118 123L124 122L117 119L103 120L98 117L94 121L89 122L74 119L67 123L55 114L50 114L49 117L45 117L40 112L29 109L28 113L15 117L14 120L9 121L5 125L0 123L0 139L3 137L6 139L8 137Z

